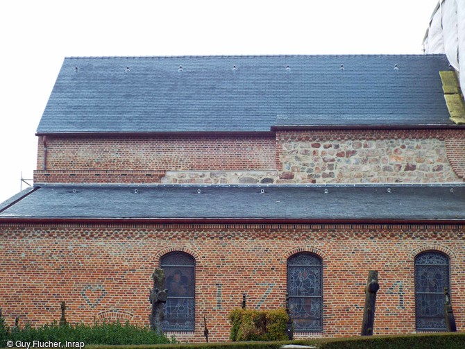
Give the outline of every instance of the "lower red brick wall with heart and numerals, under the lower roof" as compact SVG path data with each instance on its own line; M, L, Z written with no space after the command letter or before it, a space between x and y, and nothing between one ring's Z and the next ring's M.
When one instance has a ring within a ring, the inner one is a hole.
M287 257L323 259L323 333L360 333L364 284L378 270L375 334L415 332L414 257L441 250L450 257L457 330L465 330L464 225L147 225L8 223L0 225L0 307L10 325L128 319L146 324L151 273L160 257L183 250L196 259L196 330L175 333L227 340L228 313L247 293L247 307L284 307ZM171 334L171 333L170 333Z

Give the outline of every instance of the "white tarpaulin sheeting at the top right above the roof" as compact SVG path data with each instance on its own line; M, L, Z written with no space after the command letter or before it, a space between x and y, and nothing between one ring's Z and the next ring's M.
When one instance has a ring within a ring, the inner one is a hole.
M465 0L440 0L423 41L425 53L446 53L465 87Z

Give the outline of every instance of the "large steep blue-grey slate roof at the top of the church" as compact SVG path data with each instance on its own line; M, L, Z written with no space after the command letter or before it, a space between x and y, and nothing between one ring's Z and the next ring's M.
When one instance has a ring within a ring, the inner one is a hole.
M37 133L450 125L448 69L444 55L65 58Z

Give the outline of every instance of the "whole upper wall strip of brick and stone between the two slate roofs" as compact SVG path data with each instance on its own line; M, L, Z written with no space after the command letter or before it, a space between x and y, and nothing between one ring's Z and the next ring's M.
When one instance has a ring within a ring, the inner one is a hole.
M35 182L463 182L465 130L307 130L275 134L47 137Z

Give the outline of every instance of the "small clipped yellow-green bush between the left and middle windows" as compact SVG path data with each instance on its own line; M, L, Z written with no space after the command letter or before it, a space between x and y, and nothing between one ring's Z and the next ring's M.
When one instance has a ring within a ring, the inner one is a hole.
M258 311L235 309L229 314L231 341L284 341L287 313L285 309Z

